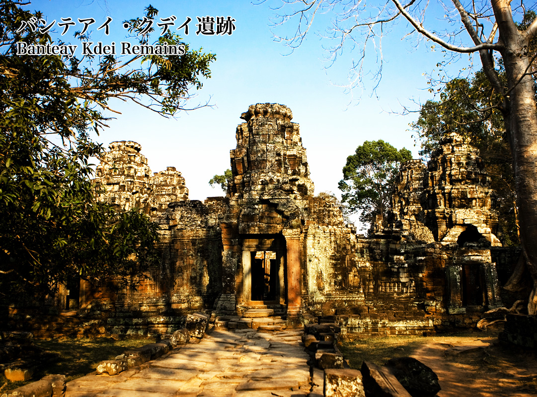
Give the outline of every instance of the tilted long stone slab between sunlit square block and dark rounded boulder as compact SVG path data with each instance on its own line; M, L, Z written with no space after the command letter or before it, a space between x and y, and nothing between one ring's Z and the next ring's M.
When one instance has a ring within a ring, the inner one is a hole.
M375 397L412 397L393 376L388 367L364 361L361 367L362 381L367 395Z

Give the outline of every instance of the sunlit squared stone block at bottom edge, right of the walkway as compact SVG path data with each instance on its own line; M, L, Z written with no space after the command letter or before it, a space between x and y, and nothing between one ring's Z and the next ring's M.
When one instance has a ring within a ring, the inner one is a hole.
M324 397L365 397L362 374L358 370L324 370Z

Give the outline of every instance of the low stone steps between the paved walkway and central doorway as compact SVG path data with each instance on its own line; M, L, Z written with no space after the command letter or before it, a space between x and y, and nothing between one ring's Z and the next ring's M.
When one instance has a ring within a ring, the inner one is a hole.
M255 305L244 307L242 315L219 316L215 319L214 325L216 328L253 328L272 332L287 328L285 318L285 305Z

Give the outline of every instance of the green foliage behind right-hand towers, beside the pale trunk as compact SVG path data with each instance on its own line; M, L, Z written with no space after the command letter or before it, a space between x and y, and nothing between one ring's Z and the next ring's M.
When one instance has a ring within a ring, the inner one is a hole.
M480 151L491 187L497 192L499 238L502 244L517 245L518 220L509 139L502 114L495 105L500 97L482 71L471 80L453 79L439 101L427 101L419 118L410 124L421 141L420 155L430 158L440 140L451 132L466 137Z

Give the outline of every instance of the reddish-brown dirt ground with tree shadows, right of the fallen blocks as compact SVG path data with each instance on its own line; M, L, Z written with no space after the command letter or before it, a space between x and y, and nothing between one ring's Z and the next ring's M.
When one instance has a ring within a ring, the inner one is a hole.
M535 354L499 344L497 333L383 339L346 343L344 356L354 356L351 366L358 368L360 356L377 364L414 357L438 375L438 397L537 396Z

